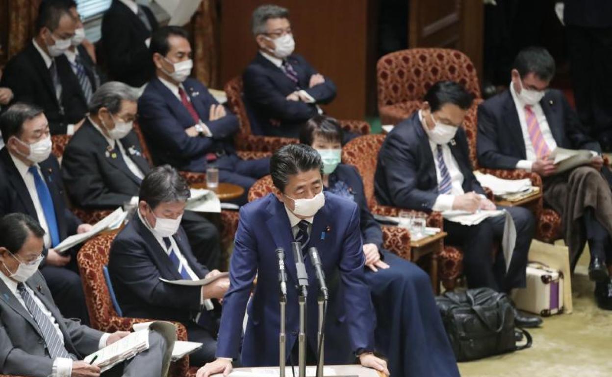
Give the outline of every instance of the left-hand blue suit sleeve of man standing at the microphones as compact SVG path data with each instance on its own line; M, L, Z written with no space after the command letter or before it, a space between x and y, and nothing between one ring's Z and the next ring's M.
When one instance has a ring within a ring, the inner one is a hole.
M223 315L218 332L217 357L239 356L242 320L247 307L253 280L257 274L257 244L253 230L245 220L244 207L236 232L234 252L230 263L230 288L223 298Z

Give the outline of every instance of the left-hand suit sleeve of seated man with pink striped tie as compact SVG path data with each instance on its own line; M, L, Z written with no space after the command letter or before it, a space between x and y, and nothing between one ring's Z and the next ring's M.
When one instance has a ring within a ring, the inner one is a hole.
M499 152L498 128L501 125L485 104L478 106L478 163L490 169L516 169L519 159Z

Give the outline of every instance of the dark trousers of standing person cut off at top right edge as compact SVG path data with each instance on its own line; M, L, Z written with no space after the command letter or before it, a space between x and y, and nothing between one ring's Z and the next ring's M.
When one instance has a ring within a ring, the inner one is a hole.
M568 25L576 108L581 123L602 147L612 147L612 27Z

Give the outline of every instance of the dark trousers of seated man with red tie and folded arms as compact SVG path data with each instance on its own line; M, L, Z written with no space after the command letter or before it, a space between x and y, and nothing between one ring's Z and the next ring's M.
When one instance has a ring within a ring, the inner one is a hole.
M256 180L270 174L270 158L241 159L236 155L223 156L211 166L219 169L219 181L233 183L244 188L244 194L233 203L247 203L248 189Z

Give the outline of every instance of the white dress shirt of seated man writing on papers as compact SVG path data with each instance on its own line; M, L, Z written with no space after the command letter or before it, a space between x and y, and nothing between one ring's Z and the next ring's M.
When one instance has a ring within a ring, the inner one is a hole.
M419 120L423 127L427 127L420 110ZM433 155L433 163L436 166L436 179L439 183L442 181L442 175L440 174L440 167L438 165L438 144L429 140L429 146L431 148L431 154ZM463 177L463 174L461 173L461 170L457 164L457 160L455 160L455 156L453 156L453 153L450 151L448 144L442 145L442 159L444 160L444 164L446 165L446 169L449 171L450 175L450 194L438 195L436 202L431 208L434 211L452 210L455 196L465 194L465 191L463 191L463 180L465 177Z

